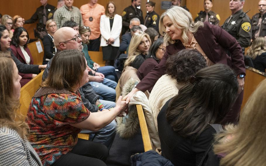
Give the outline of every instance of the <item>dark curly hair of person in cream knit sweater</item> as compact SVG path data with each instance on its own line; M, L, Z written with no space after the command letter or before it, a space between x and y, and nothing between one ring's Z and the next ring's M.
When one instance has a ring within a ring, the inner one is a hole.
M179 83L186 83L198 70L207 67L205 58L195 49L184 49L166 61L166 74Z

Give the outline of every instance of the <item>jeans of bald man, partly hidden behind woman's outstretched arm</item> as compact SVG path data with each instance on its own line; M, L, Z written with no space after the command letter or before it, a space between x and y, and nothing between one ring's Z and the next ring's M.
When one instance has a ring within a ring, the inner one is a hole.
M99 101L103 104L103 106L106 109L115 107L115 102L105 101L105 100L99 100ZM113 120L111 123L109 123L108 125L106 125L105 127L96 132L82 129L80 133L90 134L89 136L90 141L104 144L105 146L107 146L108 150L110 150L113 141L115 139L115 127L116 127L116 122L115 120Z

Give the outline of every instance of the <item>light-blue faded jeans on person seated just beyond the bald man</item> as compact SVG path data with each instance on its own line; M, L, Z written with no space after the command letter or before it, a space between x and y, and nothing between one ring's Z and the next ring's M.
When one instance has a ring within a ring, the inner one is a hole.
M117 85L115 81L104 78L103 82L91 81L89 83L91 84L92 89L95 91L95 93L100 96L100 99L115 102L115 87Z

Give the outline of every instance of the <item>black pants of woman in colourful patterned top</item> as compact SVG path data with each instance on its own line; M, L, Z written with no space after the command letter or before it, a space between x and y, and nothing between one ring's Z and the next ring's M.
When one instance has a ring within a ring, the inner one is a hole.
M108 149L101 143L78 139L77 145L72 151L62 155L52 166L106 166L104 163L108 157Z

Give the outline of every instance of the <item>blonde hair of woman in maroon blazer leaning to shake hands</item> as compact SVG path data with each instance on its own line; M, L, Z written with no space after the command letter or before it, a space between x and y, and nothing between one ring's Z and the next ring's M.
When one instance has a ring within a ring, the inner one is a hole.
M173 25L178 28L182 29L182 42L188 42L188 32L192 34L198 31L199 27L203 27L203 23L198 21L194 23L192 19L191 13L186 11L184 8L180 6L171 6L167 9L160 17L159 20L159 31L162 36L164 36L164 42L166 45L174 44L175 40L172 40L168 33L165 32L165 27L163 26L163 18L168 16L170 20L173 22Z

